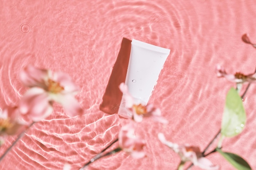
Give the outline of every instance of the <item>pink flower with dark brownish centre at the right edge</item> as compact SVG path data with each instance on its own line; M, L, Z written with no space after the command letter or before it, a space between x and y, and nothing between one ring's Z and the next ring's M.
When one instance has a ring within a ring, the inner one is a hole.
M237 72L236 74L227 74L225 69L217 65L217 76L218 77L225 77L228 81L234 83L245 83L245 82L254 82L256 80L256 73L244 75L242 73Z

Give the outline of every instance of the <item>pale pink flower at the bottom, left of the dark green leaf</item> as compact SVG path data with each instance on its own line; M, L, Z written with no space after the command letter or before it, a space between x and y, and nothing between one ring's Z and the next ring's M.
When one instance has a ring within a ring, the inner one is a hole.
M185 162L191 161L195 166L202 168L204 170L218 170L219 166L214 166L209 159L202 157L200 149L195 146L186 146L173 144L170 141L166 141L164 134L159 133L158 139L169 148L173 149L178 155L180 155L181 163L180 167L184 165ZM179 169L180 170L180 169Z

